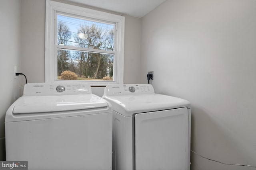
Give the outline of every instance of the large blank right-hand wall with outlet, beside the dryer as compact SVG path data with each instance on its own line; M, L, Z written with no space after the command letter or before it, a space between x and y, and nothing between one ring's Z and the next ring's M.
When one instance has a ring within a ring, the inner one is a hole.
M191 102L192 150L256 166L255 0L167 0L142 18L141 54L157 93ZM250 169L191 156L192 170Z

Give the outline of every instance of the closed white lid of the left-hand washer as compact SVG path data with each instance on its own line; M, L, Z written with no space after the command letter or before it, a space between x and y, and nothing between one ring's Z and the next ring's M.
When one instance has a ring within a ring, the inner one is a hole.
M108 107L107 102L94 94L60 96L22 96L13 113L46 113Z

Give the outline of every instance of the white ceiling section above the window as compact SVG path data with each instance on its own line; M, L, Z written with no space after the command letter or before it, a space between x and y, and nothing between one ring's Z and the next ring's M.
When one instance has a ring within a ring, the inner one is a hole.
M142 18L166 0L69 0L105 10Z

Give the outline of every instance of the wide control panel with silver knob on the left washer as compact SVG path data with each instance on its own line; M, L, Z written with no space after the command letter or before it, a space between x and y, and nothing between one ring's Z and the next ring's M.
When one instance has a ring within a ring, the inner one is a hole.
M48 96L92 94L89 84L86 83L28 83L24 86L25 96Z

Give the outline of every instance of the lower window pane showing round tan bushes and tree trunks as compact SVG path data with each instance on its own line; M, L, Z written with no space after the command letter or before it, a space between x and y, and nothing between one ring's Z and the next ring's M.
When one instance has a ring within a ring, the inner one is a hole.
M113 80L114 54L58 49L58 80Z

